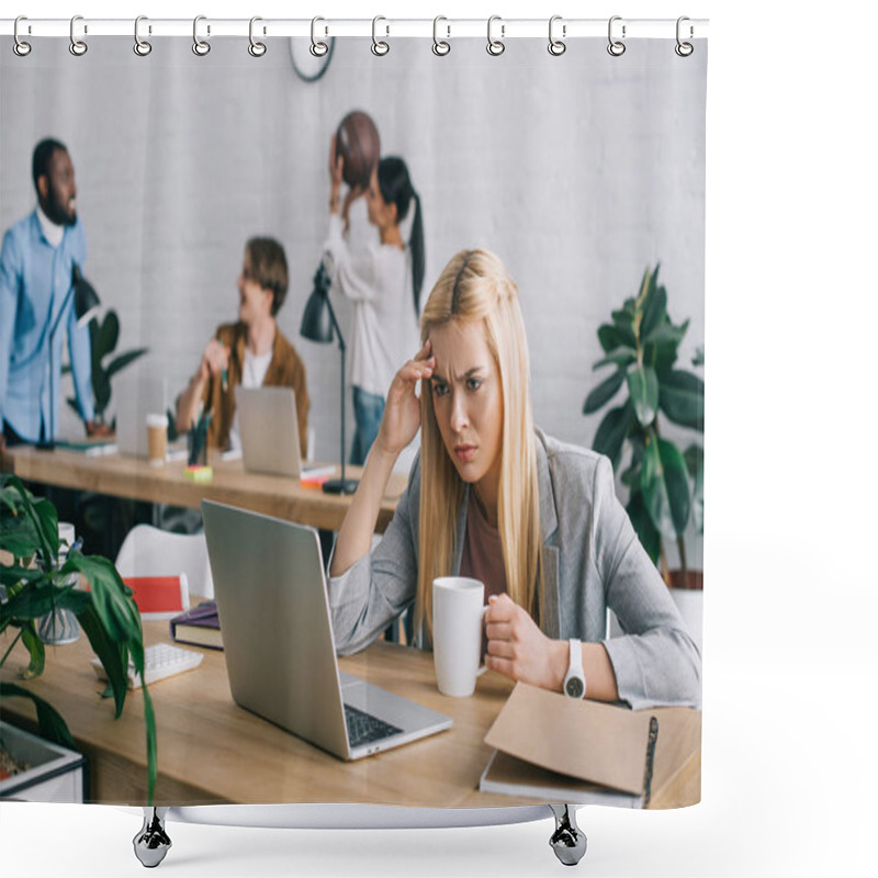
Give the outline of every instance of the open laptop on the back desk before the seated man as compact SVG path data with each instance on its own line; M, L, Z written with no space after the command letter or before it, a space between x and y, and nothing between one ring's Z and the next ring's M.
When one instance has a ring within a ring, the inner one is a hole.
M237 387L240 449L250 473L302 475L295 394L290 387Z

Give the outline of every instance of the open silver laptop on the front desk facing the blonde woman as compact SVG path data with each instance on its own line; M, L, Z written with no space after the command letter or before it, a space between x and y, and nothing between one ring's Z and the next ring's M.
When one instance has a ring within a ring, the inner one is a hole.
M232 696L359 759L448 729L451 717L341 674L314 528L202 500Z

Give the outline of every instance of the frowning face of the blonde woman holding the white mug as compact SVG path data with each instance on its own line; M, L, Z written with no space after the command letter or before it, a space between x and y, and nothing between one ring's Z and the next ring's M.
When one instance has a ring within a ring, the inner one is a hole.
M503 387L481 322L450 320L430 330L436 369L430 380L436 423L464 482L499 485Z

